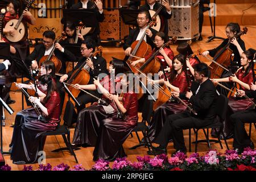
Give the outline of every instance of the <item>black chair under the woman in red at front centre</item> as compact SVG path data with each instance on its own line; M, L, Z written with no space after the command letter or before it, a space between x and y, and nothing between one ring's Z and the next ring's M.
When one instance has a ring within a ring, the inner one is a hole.
M133 131L131 131L131 132L135 132L135 134L138 138L139 144L137 144L133 147L130 147L129 148L130 150L133 150L135 148L142 147L142 146L148 147L149 151L152 150L152 148L153 148L152 143L151 143L150 139L147 136L147 133L148 133L147 123L148 123L148 121L150 121L151 115L153 113L153 109L152 109L153 104L154 104L153 100L146 100L144 102L143 108L142 108L142 121L137 122L137 126L133 129ZM142 132L143 138L144 138L143 141L139 138L138 132Z

